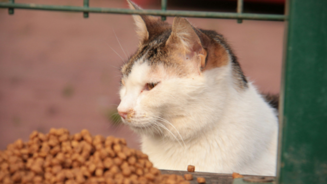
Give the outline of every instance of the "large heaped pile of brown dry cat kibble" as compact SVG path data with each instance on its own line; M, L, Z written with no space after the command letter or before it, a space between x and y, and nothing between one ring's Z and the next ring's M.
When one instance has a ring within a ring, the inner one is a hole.
M189 184L181 175L161 175L148 156L126 146L125 139L88 130L32 132L0 151L3 184Z

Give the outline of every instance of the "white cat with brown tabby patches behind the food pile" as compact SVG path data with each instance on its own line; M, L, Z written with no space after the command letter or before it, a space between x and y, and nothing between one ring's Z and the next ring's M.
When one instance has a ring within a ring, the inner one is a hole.
M224 37L181 17L172 25L133 18L140 44L121 68L117 110L154 166L276 175L276 109L243 75Z

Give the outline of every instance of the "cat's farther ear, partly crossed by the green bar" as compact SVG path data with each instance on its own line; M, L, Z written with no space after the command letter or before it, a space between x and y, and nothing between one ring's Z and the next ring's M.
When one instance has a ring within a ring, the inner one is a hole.
M130 9L141 9L135 3L127 0ZM161 33L167 27L167 23L161 21L159 18L150 15L133 15L136 25L136 33L141 42L150 39L152 36Z

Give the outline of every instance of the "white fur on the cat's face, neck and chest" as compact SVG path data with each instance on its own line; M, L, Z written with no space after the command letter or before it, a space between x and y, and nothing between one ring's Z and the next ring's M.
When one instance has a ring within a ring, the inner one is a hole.
M179 77L142 60L124 78L118 111L133 109L123 122L141 134L155 167L276 174L277 117L251 83L237 89L230 65ZM160 83L145 90L150 82Z

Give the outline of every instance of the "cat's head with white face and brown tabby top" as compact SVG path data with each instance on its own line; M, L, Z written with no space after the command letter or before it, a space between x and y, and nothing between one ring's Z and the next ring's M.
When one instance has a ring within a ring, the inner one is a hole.
M130 8L139 9L128 2ZM236 58L220 34L194 28L180 17L172 25L153 16L133 18L140 45L122 66L117 108L133 130L188 138L209 126L211 114L222 112L230 84L246 87Z

